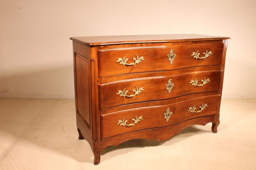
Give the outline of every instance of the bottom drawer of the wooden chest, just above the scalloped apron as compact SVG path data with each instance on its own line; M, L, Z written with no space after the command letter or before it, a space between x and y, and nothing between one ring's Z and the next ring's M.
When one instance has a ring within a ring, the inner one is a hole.
M220 95L189 99L170 105L137 108L101 116L102 139L136 130L163 127L217 114Z

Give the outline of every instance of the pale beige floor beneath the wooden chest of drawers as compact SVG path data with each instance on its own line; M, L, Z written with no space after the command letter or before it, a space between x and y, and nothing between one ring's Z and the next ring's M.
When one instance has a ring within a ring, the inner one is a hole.
M0 98L1 170L256 170L256 99L222 99L221 123L191 126L165 142L143 139L102 151L78 140L75 102Z

